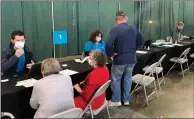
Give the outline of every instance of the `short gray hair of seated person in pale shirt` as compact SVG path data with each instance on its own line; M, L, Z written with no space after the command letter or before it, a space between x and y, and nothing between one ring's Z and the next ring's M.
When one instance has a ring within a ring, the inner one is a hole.
M61 66L59 62L53 58L45 59L42 62L41 71L44 74L44 76L59 73L60 70Z

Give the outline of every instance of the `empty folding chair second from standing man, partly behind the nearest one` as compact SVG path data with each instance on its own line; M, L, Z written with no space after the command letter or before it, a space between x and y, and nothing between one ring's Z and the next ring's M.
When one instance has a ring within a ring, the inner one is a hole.
M158 81L158 87L159 87L159 89L161 89L160 84L161 84L162 82L165 84L164 74L163 74L163 67L162 67L162 61L164 60L165 57L166 57L166 54L164 54L164 55L160 58L160 60L158 61L159 66L156 67L156 70L154 70L154 72L153 72L153 73L155 73L156 76L157 76L157 81ZM145 71L148 69L148 67L149 67L149 66L144 67L144 68L143 68L143 71L145 72ZM162 80L161 80L161 81L159 81L159 78L158 78L158 75L159 75L160 73L162 74Z

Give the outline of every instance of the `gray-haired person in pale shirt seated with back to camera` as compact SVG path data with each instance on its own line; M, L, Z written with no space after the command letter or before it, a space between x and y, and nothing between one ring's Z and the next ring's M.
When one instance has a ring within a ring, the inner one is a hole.
M72 109L74 93L69 75L60 75L60 64L55 59L42 62L43 78L34 84L30 105L37 109L34 118L48 118Z

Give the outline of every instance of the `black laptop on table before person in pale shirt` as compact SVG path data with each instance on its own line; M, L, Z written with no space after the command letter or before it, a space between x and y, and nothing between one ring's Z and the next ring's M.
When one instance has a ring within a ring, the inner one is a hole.
M35 63L34 65L32 65L31 69L28 72L28 78L35 78L35 77L42 78L41 64L42 63Z

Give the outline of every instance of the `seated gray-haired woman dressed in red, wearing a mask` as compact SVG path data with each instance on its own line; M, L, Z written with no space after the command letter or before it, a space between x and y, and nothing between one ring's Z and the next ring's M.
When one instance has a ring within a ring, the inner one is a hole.
M90 53L89 64L94 68L86 79L79 84L74 85L75 90L80 96L74 98L75 106L84 110L94 93L109 80L109 71L106 67L106 55L104 52L94 50ZM82 87L82 88L81 88ZM106 94L94 99L92 109L100 108L106 98Z

